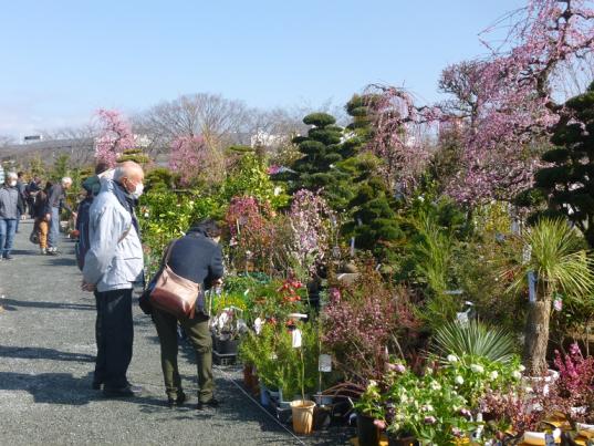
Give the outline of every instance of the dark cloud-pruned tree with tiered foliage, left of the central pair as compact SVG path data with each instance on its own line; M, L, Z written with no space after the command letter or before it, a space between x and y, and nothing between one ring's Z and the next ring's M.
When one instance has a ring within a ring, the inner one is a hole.
M291 193L299 189L321 191L331 207L344 209L352 198L352 193L344 187L348 175L337 167L343 160L343 128L335 125L334 116L326 113L309 114L303 118L303 123L313 126L308 136L293 138L303 157L293 164L292 172L278 174L277 178L288 180Z

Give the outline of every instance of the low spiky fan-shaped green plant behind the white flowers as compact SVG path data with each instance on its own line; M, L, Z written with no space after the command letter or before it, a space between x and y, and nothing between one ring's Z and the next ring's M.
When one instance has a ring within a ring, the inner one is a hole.
M479 320L467 324L448 322L436 330L434 341L436 353L444 360L455 354L459 359L482 356L509 363L515 354L515 342L509 332Z

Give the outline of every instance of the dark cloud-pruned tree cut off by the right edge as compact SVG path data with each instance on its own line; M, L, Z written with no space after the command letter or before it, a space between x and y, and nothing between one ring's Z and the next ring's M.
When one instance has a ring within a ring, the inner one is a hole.
M565 216L594 248L594 82L565 107L572 120L555 126L555 147L542 156L552 165L536 172L535 188L548 203L544 214Z

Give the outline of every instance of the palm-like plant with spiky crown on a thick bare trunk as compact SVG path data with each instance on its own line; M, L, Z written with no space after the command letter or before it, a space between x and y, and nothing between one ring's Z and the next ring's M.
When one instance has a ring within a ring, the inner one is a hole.
M553 297L561 292L569 299L592 299L594 262L583 238L563 219L541 219L522 239L531 248L530 259L504 273L513 277L510 290L525 289L528 273L536 274L536 300L528 312L523 357L529 372L540 375L546 371Z

